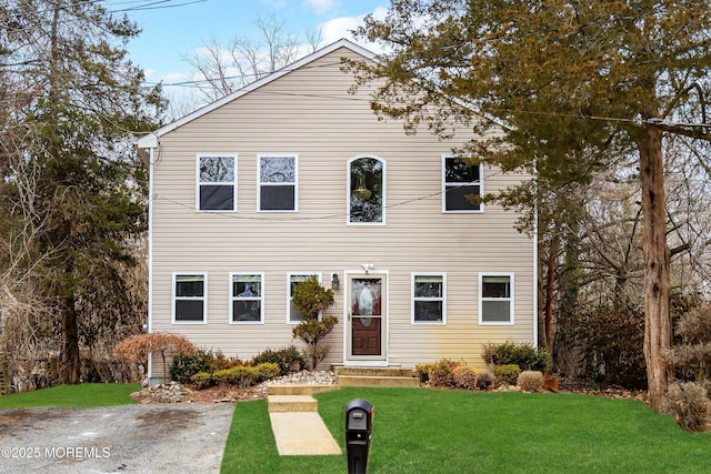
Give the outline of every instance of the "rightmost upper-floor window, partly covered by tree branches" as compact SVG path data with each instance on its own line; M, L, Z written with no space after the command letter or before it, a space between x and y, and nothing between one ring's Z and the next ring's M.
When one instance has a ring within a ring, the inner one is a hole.
M457 157L442 158L443 212L481 212L481 203L471 201L482 195L481 171L481 164L472 167Z

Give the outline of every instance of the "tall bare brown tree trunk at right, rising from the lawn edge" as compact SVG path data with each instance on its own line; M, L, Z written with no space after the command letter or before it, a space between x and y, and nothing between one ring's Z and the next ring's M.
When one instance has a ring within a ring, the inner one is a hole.
M671 349L671 322L661 130L647 125L638 147L644 223L644 360L651 407L662 412L673 372L664 360Z

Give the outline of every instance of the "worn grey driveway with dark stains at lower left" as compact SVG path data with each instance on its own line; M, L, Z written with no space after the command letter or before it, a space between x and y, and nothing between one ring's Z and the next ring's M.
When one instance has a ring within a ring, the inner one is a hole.
M0 410L6 473L219 473L233 403Z

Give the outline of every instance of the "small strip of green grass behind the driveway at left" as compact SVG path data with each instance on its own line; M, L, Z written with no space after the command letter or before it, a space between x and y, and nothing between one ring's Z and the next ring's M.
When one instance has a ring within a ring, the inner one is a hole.
M32 406L90 407L136 403L129 395L141 390L138 383L58 385L33 392L0 395L0 409L28 409Z

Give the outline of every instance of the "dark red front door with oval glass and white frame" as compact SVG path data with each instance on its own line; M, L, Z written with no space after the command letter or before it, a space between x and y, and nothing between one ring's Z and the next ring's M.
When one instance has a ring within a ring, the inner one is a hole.
M385 278L348 279L348 351L351 361L385 360Z

